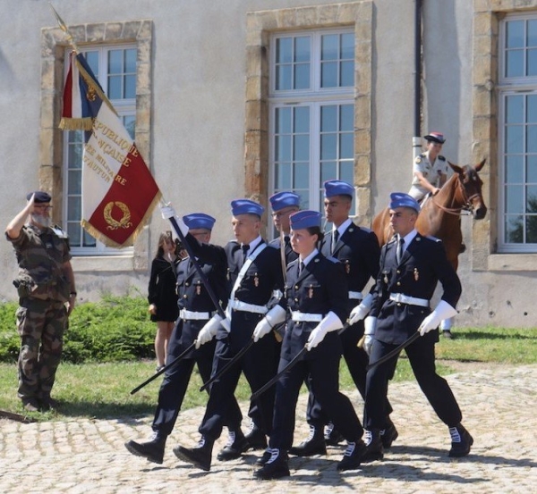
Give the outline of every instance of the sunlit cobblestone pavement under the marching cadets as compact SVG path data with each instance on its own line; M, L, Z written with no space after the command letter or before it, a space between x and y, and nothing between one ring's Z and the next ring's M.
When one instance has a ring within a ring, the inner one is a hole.
M0 420L0 491L4 493L230 492L537 492L537 365L505 367L447 376L475 440L470 456L447 457L449 435L414 381L394 384L389 398L399 439L381 462L338 473L340 448L328 456L290 460L291 477L252 479L258 452L220 463L215 445L211 471L202 472L174 456L177 443L195 445L202 409L179 417L164 465L132 456L126 440L147 438L149 417L140 420L75 419L51 423ZM357 393L352 395L361 409ZM295 440L307 435L305 400L297 412ZM243 409L246 404L243 404Z

